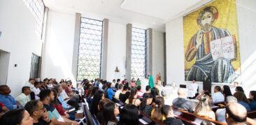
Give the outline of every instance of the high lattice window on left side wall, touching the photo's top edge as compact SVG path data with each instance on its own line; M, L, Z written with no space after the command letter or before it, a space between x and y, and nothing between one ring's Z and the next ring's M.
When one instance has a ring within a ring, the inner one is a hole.
M31 11L36 19L36 34L42 38L43 33L43 18L45 13L45 5L43 0L23 0L27 8Z

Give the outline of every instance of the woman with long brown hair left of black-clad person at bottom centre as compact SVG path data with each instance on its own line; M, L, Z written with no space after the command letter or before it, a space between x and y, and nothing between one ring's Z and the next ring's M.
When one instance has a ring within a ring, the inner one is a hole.
M155 98L155 108L152 109L151 117L157 119L159 122L163 122L166 117L162 115L162 107L164 106L164 98L157 96Z

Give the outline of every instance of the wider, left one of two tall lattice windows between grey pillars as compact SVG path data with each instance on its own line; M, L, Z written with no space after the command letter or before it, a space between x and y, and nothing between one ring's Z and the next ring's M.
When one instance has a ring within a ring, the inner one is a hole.
M77 81L101 74L102 21L81 17Z

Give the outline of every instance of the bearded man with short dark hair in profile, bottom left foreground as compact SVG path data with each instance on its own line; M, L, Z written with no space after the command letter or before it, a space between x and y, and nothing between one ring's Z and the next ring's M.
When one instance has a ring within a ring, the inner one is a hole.
M46 112L46 109L43 107L43 103L41 101L29 101L25 107L27 112L29 112L30 117L33 118L33 124L52 124L51 120L49 119L49 115Z

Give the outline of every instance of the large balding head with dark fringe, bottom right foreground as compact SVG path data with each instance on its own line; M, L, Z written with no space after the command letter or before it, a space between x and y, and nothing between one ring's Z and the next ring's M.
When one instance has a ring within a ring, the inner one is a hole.
M229 103L226 107L227 124L243 124L246 122L247 111L239 103Z

